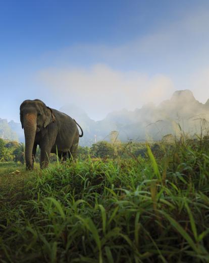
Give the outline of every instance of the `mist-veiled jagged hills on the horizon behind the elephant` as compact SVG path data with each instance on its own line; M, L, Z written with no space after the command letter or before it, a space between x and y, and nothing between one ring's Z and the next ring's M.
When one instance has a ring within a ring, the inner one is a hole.
M167 134L179 133L179 125L191 135L200 133L200 127L204 129L209 121L209 99L205 104L197 101L190 90L174 92L171 99L163 101L158 106L148 103L140 109L129 111L122 109L109 113L106 118L94 121L87 113L72 104L64 105L62 112L74 118L83 128L84 137L80 139L80 145L90 146L97 141L110 141L110 133L119 131L121 141L145 141L146 139L161 140ZM21 124L14 121L7 123L1 128L0 137L8 139L18 136L20 142L24 142L24 132ZM201 124L201 125L200 125ZM4 128L4 127L5 128Z

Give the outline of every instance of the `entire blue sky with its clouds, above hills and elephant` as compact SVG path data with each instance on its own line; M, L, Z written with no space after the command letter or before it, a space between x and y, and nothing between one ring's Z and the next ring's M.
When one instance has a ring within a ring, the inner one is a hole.
M1 1L0 117L25 99L81 106L93 119L209 98L208 1Z

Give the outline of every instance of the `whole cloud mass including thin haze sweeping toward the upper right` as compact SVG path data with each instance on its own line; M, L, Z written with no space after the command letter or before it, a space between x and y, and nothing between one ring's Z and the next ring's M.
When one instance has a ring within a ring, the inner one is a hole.
M190 89L205 102L209 74L200 68L209 61L208 24L209 9L200 7L117 46L84 43L51 52L43 60L53 57L49 64L55 68L40 70L39 80L61 105L81 105L97 119L112 110L160 103L174 90Z

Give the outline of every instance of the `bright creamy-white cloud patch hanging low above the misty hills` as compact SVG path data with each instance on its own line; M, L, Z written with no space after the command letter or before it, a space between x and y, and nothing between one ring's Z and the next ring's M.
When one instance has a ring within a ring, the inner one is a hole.
M39 80L62 104L80 105L97 119L113 110L133 110L150 101L160 103L174 91L172 81L164 75L123 73L102 64L87 70L43 70Z

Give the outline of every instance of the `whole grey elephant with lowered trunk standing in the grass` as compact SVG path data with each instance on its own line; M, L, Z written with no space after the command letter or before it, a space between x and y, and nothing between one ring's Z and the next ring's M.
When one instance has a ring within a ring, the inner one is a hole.
M76 157L83 130L67 114L47 107L39 99L25 100L20 105L20 121L25 134L26 170L33 169L37 145L40 147L41 169L48 167L50 153L58 153L60 160Z

